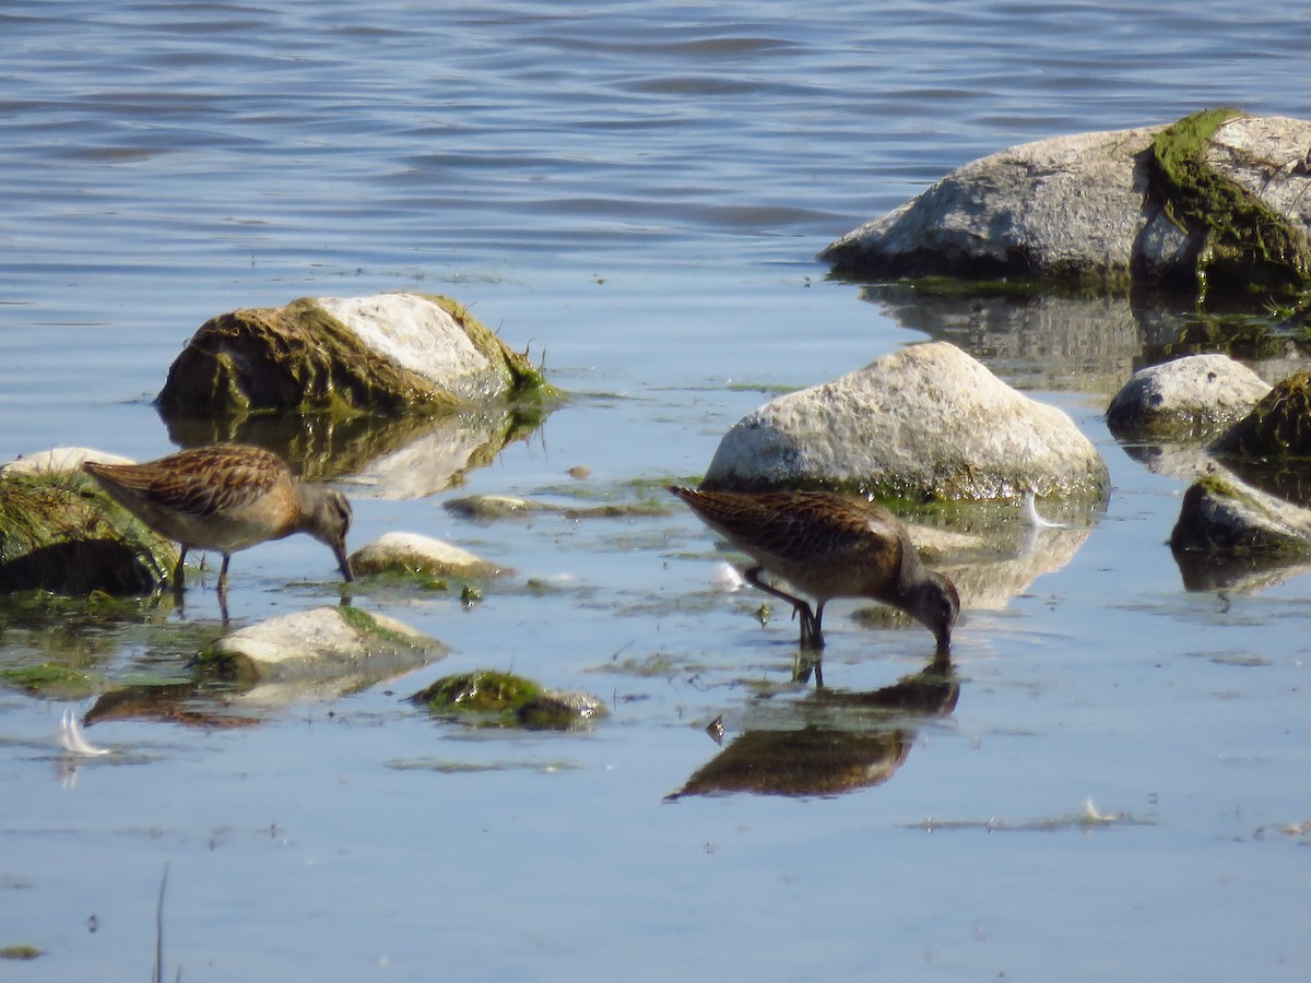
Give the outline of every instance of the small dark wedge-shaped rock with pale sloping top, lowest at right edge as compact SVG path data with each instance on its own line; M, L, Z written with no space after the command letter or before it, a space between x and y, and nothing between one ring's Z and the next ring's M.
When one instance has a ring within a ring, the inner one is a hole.
M1295 557L1311 550L1311 510L1213 474L1184 493L1169 545L1176 553Z

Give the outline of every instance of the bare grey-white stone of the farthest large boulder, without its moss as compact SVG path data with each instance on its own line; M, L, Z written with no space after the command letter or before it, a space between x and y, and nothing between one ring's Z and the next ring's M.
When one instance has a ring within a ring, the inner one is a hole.
M1192 282L1196 237L1150 190L1152 139L1165 127L1076 134L1000 151L848 232L821 254L873 277L1016 275ZM1311 229L1311 121L1239 115L1205 163Z

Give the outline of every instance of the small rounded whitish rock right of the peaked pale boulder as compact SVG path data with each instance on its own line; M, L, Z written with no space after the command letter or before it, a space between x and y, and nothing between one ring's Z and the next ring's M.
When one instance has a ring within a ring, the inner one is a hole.
M1188 355L1134 372L1110 401L1106 426L1121 438L1205 439L1269 392L1269 383L1228 355Z

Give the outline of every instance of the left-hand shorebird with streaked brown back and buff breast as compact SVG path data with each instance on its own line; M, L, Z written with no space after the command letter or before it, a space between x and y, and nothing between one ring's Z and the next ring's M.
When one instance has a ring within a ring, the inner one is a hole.
M194 447L147 464L97 464L83 471L136 518L181 548L173 588L182 590L187 549L223 554L219 591L227 590L232 553L271 539L308 532L332 549L341 575L351 511L326 485L298 481L278 455L245 444Z

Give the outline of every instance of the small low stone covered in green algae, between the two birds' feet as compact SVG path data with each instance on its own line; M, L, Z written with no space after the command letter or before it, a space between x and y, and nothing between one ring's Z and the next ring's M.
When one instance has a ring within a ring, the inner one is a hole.
M547 689L496 670L443 676L414 693L410 703L451 720L528 730L572 730L606 716L606 705L589 693Z

